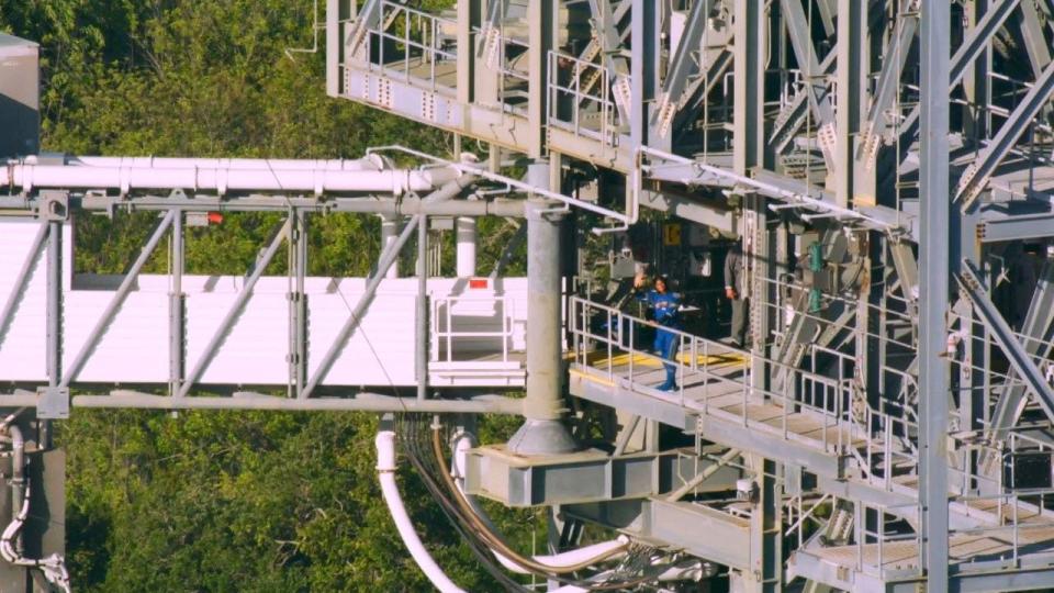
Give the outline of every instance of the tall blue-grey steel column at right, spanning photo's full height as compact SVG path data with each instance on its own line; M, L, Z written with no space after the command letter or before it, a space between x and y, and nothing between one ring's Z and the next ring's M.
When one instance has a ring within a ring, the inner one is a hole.
M948 393L949 366L941 356L948 335L950 211L949 77L951 9L944 0L921 3L922 232L919 239L919 484L921 567L929 593L948 591ZM956 237L957 240L957 237Z

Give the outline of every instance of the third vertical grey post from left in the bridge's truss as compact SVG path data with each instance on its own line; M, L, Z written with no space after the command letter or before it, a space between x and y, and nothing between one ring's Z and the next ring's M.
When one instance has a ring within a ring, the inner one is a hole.
M291 395L304 396L307 382L307 293L304 279L307 276L307 212L296 209L290 213L292 227L289 233L290 266L293 290L289 294L289 390Z

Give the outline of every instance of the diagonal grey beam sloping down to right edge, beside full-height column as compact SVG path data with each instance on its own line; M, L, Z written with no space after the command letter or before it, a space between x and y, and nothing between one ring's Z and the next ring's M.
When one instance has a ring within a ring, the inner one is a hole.
M1010 329L1007 321L1002 318L1002 314L996 309L995 303L988 298L985 284L980 280L980 272L972 264L964 261L957 280L960 287L973 302L974 310L977 311L985 326L991 332L991 336L1002 347L1003 354L1007 355L1013 370L1024 379L1029 391L1035 396L1047 417L1054 421L1054 390L1046 383L1043 371L1035 365L1028 350L1021 345L1013 331Z

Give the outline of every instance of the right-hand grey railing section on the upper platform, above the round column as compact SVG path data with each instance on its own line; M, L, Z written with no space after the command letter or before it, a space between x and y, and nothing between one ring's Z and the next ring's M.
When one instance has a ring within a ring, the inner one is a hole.
M614 146L619 114L607 68L549 52L549 125Z

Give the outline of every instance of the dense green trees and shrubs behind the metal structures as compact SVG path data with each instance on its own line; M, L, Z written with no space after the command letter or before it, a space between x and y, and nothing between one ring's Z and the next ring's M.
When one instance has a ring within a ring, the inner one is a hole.
M311 2L14 0L0 30L42 43L43 145L80 154L355 158L371 144L452 143L375 110L325 97ZM77 221L80 270L119 273L149 214ZM188 239L197 272L243 272L272 215L227 216ZM378 221L312 220L312 273L363 275ZM481 267L513 230L481 223ZM164 270L165 249L150 262ZM282 258L272 271L280 272ZM408 264L404 262L404 264ZM511 271L514 271L513 268ZM522 270L522 265L519 266ZM417 591L424 577L380 501L375 417L356 414L75 411L67 448L67 537L80 591ZM481 427L492 439L513 419ZM403 475L423 538L467 590L497 589L416 478ZM500 523L529 550L534 514Z

